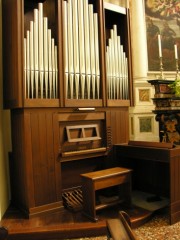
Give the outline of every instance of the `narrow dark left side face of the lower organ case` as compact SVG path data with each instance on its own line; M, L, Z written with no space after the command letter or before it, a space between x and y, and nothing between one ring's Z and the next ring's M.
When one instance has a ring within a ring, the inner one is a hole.
M18 206L22 205L23 208L27 208L29 202L27 197L26 162L24 161L25 141L24 141L24 128L22 127L23 126L22 114L23 111L11 112L12 159L10 159L11 166L10 178L11 178L12 202ZM29 177L31 178L31 176ZM31 192L31 189L29 189L29 191Z

